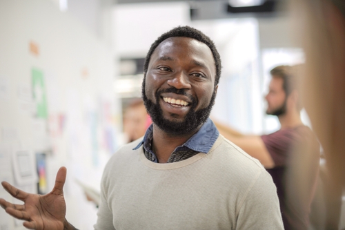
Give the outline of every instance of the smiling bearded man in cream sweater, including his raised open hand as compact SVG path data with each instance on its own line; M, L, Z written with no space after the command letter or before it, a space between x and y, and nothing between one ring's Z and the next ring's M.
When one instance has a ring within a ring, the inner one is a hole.
M270 175L208 119L220 72L199 30L178 27L152 44L142 96L153 124L108 162L95 229L283 229ZM26 204L0 204L30 229L75 229L65 219L65 179L61 168L45 196L3 182Z

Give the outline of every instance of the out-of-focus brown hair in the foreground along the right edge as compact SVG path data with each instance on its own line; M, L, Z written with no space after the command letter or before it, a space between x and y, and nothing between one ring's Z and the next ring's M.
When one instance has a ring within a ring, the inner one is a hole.
M338 229L345 186L345 1L293 0L291 6L306 53L302 99L326 158L326 205L333 204L326 207L326 229Z

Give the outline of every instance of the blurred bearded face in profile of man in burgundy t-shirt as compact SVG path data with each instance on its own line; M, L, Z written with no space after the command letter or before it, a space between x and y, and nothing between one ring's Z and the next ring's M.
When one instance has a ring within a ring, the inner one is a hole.
M268 94L265 97L267 101L268 115L283 115L286 113L286 93L283 88L283 79L272 77Z

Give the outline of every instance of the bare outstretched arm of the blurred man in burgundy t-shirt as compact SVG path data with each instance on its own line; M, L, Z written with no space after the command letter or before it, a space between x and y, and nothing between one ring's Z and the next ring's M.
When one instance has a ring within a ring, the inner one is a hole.
M229 126L215 121L213 121L213 123L215 123L215 126L218 128L218 131L221 135L239 146L239 148L242 148L252 157L259 160L259 162L261 162L266 169L271 169L275 166L275 162L270 156L270 153L268 152L260 136L243 135Z

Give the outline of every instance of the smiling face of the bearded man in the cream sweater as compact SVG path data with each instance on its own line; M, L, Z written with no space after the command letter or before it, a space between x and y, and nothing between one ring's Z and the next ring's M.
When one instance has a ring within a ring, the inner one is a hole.
M143 99L152 121L166 133L196 131L214 104L215 61L206 46L187 37L170 37L150 57Z

